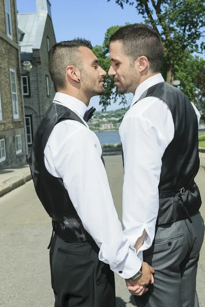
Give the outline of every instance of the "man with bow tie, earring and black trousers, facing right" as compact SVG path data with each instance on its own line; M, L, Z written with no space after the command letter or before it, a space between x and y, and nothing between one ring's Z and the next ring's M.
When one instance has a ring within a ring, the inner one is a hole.
M106 72L90 41L79 38L52 47L49 72L57 93L35 135L30 168L53 223L55 307L114 307L113 272L140 282L140 293L153 270L122 234L101 146L85 121L91 97L105 91Z

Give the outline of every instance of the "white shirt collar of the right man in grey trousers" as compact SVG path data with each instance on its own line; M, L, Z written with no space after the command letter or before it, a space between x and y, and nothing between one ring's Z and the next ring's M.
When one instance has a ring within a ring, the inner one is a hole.
M164 82L165 80L163 79L161 74L154 75L150 78L148 78L146 81L142 82L136 89L135 95L133 97L132 103L130 107L133 106L133 104L140 98L140 96L149 89L152 85L155 85L160 82Z

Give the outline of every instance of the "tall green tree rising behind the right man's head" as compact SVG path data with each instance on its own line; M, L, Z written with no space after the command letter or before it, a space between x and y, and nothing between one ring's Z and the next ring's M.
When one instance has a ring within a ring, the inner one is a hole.
M145 23L160 35L164 47L162 73L167 82L171 83L175 65L184 60L186 51L202 53L205 49L204 41L199 42L205 26L204 0L115 0L115 2L122 9L125 4L134 6Z

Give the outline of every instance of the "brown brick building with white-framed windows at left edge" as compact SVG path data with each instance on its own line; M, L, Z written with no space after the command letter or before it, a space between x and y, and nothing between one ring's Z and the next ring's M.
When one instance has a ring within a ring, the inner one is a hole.
M0 1L0 168L26 162L16 0Z

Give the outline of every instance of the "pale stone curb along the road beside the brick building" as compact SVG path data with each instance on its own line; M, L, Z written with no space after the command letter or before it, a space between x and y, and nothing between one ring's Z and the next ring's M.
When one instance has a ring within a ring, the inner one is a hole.
M14 177L0 184L0 197L18 188L19 186L22 186L31 179L32 177L30 173L22 173L18 179Z

